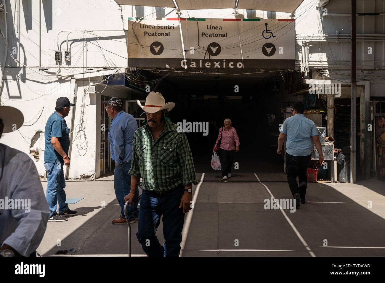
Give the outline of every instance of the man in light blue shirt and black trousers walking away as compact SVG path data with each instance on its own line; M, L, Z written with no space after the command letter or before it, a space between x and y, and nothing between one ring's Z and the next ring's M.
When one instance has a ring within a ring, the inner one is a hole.
M306 187L308 179L306 170L311 159L311 141L320 156L320 164L323 159L321 142L318 138L318 130L315 123L303 116L305 107L302 103L296 103L293 106L293 116L287 118L282 125L280 136L278 137L277 153L281 154L282 145L286 141L286 173L290 191L296 200L296 208L300 203L305 203ZM297 184L297 176L300 180L300 186Z

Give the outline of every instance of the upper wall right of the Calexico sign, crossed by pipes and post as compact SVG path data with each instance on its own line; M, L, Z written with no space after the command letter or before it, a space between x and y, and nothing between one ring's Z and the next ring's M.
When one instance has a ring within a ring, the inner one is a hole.
M296 11L296 33L298 34L340 34L350 35L350 15L321 16L321 10L316 6L317 0L305 0ZM350 14L350 2L345 0L330 0L323 8L328 13ZM307 11L307 12L306 12ZM357 13L385 12L385 2L376 0L357 1ZM385 16L357 16L357 34L385 33ZM297 42L296 68L299 69L302 42ZM385 96L383 89L385 71L385 42L357 42L357 80L370 82L371 96ZM310 69L328 69L331 79L350 80L350 41L349 42L309 42ZM372 47L372 54L368 54ZM317 71L318 72L318 71ZM320 71L321 72L321 71ZM325 79L329 79L325 76ZM322 75L321 75L322 77Z

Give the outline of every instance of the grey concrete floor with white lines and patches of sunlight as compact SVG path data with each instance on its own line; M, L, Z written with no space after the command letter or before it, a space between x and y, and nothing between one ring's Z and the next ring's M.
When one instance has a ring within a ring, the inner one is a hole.
M383 182L309 183L307 203L291 213L264 209L264 199L272 195L291 198L285 174L233 176L222 182L213 170L204 177L197 174L202 181L193 186L195 207L185 216L182 256L385 255ZM239 182L244 180L253 182ZM47 183L42 184L45 189ZM47 223L38 253L52 256L69 250L66 255L127 256L127 225L111 224L120 214L113 181L68 181L65 191L68 198L84 198L70 204L78 215ZM131 228L132 256L146 256L135 236L137 222ZM157 236L163 243L162 224Z

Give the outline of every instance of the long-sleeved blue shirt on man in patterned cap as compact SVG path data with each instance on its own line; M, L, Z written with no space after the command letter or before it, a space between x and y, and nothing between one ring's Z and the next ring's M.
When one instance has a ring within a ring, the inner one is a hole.
M132 158L132 139L138 124L135 118L123 110L112 119L108 132L111 158L115 164L130 161ZM121 157L121 158L119 158Z

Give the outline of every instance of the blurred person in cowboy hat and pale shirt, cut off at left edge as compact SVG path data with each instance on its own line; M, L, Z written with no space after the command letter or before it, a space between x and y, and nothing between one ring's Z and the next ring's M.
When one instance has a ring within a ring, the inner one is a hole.
M23 124L22 112L0 106L0 138ZM15 135L15 134L13 134ZM0 256L36 256L49 208L32 159L0 143Z

